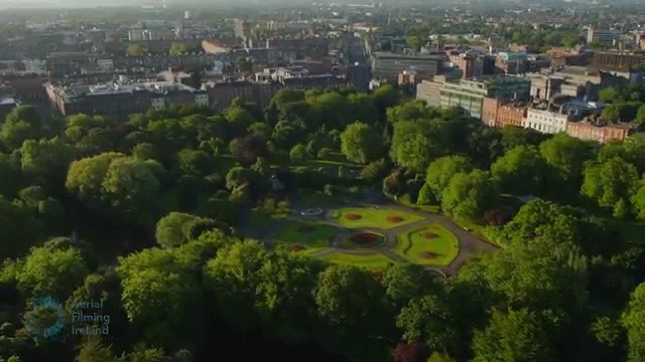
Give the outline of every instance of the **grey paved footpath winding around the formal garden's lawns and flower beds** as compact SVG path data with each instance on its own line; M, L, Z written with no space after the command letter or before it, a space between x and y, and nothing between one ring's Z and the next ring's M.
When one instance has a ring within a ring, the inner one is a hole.
M375 207L375 206L376 205L373 205L373 204L357 205L357 207ZM481 253L490 254L497 251L498 249L496 246L492 245L491 243L481 240L474 234L469 233L468 231L464 231L464 229L462 229L457 224L455 224L450 218L448 218L448 216L426 213L424 211L415 210L411 207L406 207L399 204L379 204L378 206L383 208L388 208L388 209L398 209L401 211L405 211L406 213L417 214L417 215L423 216L426 219L418 222L406 224L406 225L401 225L399 227L393 227L392 229L378 229L373 227L367 227L367 228L361 228L361 229L352 229L352 231L348 230L345 233L342 233L342 232L337 233L333 236L332 240L330 240L330 247L332 247L332 249L324 249L321 251L313 252L310 255L324 256L325 254L329 254L330 252L333 252L333 251L342 252L344 254L363 254L363 255L375 254L377 252L380 252L381 254L384 254L385 256L387 256L388 258L392 259L395 262L406 262L406 258L404 258L403 256L393 251L393 248L397 245L397 234L404 233L406 231L421 229L426 225L430 225L434 223L443 225L444 227L446 227L446 229L450 230L453 234L455 234L455 236L457 236L457 240L459 240L459 252L455 260L453 260L452 263L450 263L450 265L446 267L428 265L426 269L441 271L444 274L447 274L449 276L454 275L469 258ZM333 224L333 223L329 223L329 224ZM335 248L335 245L339 244L341 238L343 238L350 232L356 232L359 230L384 234L386 237L385 245L381 247L373 248L373 249L346 250L346 249Z

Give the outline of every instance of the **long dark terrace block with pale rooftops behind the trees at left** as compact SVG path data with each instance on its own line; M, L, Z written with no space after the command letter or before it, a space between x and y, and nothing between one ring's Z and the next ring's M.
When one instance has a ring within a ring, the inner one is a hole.
M85 113L124 120L130 113L162 109L171 104L208 106L205 91L175 82L68 87L47 83L46 91L52 106L62 115Z

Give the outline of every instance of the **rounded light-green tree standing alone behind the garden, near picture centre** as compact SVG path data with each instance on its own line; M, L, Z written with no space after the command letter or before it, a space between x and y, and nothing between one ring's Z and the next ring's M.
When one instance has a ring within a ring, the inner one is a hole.
M362 164L380 153L381 136L372 127L361 122L350 124L341 133L341 151L348 160Z

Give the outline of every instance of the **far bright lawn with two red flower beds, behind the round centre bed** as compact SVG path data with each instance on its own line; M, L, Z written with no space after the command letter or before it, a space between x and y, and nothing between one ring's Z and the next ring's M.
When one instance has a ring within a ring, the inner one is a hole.
M359 214L361 218L350 220L346 217L348 214ZM403 220L401 222L389 222L388 217L400 217ZM423 216L406 213L405 211L397 209L389 209L388 207L381 207L380 209L373 209L372 207L344 207L333 211L332 218L341 226L350 229L363 227L392 229L393 227L424 220Z

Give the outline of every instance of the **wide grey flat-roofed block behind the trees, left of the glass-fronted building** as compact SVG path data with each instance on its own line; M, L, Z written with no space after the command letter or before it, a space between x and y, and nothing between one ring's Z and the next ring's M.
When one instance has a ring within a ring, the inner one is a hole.
M372 76L395 84L402 71L416 70L419 77L429 79L442 68L441 55L404 55L376 52L372 59Z

